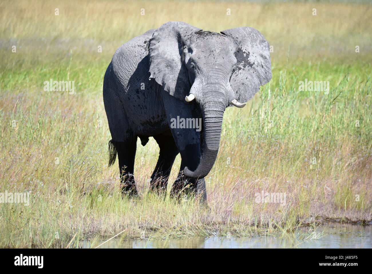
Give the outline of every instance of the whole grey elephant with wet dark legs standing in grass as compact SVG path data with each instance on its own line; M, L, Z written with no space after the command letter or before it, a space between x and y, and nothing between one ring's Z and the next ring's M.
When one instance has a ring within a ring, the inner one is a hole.
M271 79L269 44L242 27L221 33L168 22L122 45L103 81L112 140L110 164L119 159L122 191L137 195L133 176L137 137L160 147L151 189L164 192L174 158L181 154L171 195L195 191L206 200L204 177L217 157L224 111L247 102ZM195 99L185 101L193 94ZM236 101L235 101L236 102ZM171 128L171 118L202 118L203 129Z

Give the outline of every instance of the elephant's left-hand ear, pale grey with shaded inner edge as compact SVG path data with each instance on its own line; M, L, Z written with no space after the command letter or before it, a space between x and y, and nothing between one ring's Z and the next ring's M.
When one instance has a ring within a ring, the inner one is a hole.
M168 22L156 29L150 39L150 78L180 100L185 100L190 90L184 47L197 31L201 29L184 22Z

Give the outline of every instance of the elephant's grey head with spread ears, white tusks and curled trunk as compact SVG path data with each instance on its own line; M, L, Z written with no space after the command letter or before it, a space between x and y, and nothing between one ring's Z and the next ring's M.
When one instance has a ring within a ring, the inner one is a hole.
M196 103L203 116L202 156L190 178L212 169L226 107L244 107L271 79L269 44L259 31L242 27L220 34L184 22L156 29L149 46L150 78L170 95Z

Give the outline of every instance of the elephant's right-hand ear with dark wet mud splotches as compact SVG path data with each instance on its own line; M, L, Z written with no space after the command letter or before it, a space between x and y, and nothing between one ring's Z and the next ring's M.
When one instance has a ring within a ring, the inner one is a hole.
M232 73L230 85L238 102L249 101L260 86L271 79L269 43L254 28L241 27L221 31L237 44L236 68Z

